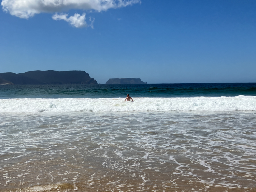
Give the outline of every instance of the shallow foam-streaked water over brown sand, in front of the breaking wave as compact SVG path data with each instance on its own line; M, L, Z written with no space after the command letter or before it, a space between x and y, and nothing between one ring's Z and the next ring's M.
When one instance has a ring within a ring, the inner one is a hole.
M256 191L255 115L0 113L0 191Z

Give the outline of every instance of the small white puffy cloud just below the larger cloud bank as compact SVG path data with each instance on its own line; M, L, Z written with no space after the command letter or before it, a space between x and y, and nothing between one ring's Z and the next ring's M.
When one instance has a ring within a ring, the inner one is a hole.
M82 27L87 27L87 23L85 21L85 13L82 15L75 13L74 16L70 16L68 18L68 14L58 14L56 13L55 15L52 16L54 20L65 20L68 23L70 23L73 27L76 28L82 28ZM92 26L93 28L93 26Z

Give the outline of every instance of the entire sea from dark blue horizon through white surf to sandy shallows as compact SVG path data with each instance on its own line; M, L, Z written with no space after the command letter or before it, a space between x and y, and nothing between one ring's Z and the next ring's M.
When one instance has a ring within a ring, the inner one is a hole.
M256 83L0 86L0 191L256 191Z

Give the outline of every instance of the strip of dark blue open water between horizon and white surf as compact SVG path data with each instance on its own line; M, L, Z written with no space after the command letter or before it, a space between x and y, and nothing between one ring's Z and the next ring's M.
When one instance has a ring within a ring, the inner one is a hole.
M133 85L4 85L7 98L220 97L256 95L256 83L133 84Z

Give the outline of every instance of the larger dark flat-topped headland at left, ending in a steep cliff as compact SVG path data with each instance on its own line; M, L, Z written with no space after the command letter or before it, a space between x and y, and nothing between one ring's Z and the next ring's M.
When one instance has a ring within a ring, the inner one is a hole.
M49 85L49 84L98 84L85 71L28 71L26 73L0 73L0 84Z

